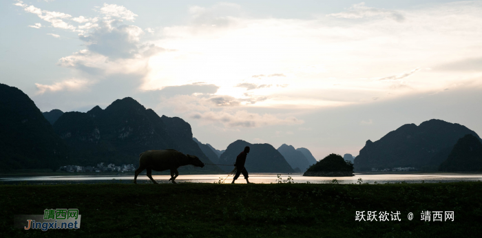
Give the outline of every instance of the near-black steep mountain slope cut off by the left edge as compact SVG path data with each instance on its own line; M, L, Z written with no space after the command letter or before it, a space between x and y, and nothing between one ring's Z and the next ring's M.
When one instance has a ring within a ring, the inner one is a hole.
M0 111L0 170L56 170L70 160L66 144L23 91L0 83Z

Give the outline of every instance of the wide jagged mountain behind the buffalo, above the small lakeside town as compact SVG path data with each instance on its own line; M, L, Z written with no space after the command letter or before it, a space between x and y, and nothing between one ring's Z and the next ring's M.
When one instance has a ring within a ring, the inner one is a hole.
M213 164L193 141L189 123L177 117L159 117L129 97L115 100L105 109L96 106L87 113L63 113L54 123L54 130L75 151L79 165L138 164L140 153L155 149L176 149ZM212 165L181 168L221 171Z

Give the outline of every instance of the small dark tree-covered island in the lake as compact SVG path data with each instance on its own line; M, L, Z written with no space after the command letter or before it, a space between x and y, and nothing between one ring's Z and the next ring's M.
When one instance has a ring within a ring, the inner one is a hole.
M353 175L353 163L343 160L342 155L330 154L304 172L303 176L345 177Z

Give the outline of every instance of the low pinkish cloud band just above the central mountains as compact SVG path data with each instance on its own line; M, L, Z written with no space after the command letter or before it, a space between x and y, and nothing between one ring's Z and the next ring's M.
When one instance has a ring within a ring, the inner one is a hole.
M303 120L297 119L294 116L277 118L268 113L260 115L258 113L249 113L244 110L236 111L235 113L229 113L227 111L193 113L190 118L203 120L205 122L222 123L224 127L256 128L271 125L301 125L304 123Z

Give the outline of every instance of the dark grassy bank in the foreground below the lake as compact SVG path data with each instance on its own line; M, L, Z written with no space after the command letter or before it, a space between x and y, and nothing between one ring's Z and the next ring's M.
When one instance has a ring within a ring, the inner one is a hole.
M78 208L81 228L12 228L45 208ZM357 210L401 221L355 221ZM422 210L454 221L420 221ZM0 237L480 237L482 182L0 185L0 212Z

